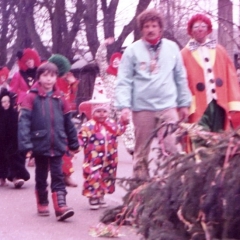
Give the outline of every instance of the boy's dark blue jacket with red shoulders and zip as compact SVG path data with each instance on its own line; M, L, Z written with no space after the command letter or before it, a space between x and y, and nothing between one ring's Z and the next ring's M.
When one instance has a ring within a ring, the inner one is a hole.
M79 147L77 132L64 95L54 88L48 96L39 82L34 84L24 99L18 123L20 151L32 150L43 156L61 156L67 146Z

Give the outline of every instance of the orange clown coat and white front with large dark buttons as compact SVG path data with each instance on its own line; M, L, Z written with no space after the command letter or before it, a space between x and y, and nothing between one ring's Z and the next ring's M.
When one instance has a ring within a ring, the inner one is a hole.
M193 94L189 121L199 122L212 100L225 111L224 128L228 129L229 112L240 111L240 92L234 66L224 48L216 45L206 49L201 57L198 50L190 50L191 40L182 50L187 69L189 88Z

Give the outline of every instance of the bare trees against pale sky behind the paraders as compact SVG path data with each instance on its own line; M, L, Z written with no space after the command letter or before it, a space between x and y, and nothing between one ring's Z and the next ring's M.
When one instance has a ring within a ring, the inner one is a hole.
M116 41L108 48L110 56L121 49L130 33L134 32L134 40L140 38L136 16L150 3L165 17L165 37L182 47L189 38L186 22L190 15L196 11L212 14L209 7L212 1L136 0L129 16L119 15L120 0L0 1L0 65L7 63L11 67L16 52L26 47L36 48L43 59L52 53L60 53L72 61L76 53L87 51L94 58L100 39L112 36ZM212 17L218 18L221 26L219 40L227 47L234 41L231 1L219 0L218 7L219 17L217 14ZM121 18L127 20L122 23ZM120 30L119 21L122 24ZM226 29L230 36L227 39Z

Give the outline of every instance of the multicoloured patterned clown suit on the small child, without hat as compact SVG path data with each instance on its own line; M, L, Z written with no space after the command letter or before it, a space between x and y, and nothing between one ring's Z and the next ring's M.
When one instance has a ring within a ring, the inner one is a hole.
M115 191L117 137L122 135L125 129L125 124L111 119L106 119L103 123L91 119L82 125L79 140L84 147L84 196L100 198Z

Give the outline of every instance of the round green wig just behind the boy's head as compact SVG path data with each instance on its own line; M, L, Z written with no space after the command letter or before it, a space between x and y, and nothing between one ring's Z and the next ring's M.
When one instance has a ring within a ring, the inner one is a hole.
M71 68L71 63L69 60L61 54L52 55L48 61L57 66L59 77L62 77L65 73L69 72Z

